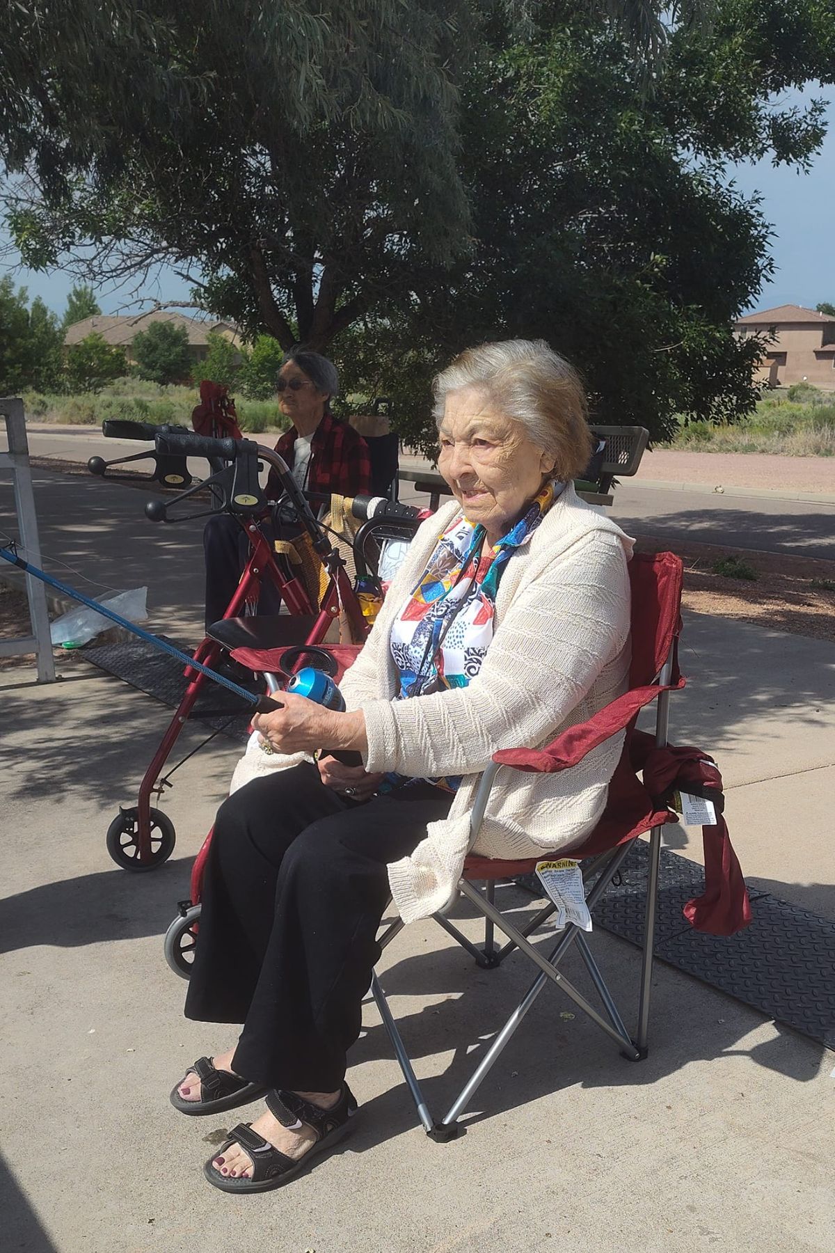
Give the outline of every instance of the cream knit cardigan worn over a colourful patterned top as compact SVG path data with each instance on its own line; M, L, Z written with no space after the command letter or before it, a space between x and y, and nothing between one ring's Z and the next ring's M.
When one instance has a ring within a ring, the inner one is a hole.
M456 895L469 845L469 811L481 772L499 748L538 748L585 722L627 687L632 540L568 485L510 559L496 596L496 632L478 675L412 700L394 700L392 621L426 569L438 536L461 512L452 501L427 519L388 590L374 628L341 688L363 709L368 771L413 777L464 776L449 814L427 827L389 882L404 922L443 910ZM232 789L305 758L263 753L253 736ZM474 851L528 858L582 842L596 826L623 733L572 769L530 774L503 767L493 783Z

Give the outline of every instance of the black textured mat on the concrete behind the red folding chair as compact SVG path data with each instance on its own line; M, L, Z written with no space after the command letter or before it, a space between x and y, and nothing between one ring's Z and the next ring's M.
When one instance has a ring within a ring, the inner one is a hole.
M637 840L595 911L596 923L636 945L647 863L648 846ZM751 925L735 936L709 936L681 913L702 885L701 866L661 850L656 957L835 1049L835 922L752 890Z

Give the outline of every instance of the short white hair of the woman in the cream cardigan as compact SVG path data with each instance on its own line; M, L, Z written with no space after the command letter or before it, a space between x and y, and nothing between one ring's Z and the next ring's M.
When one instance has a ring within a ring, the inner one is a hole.
M545 340L503 340L467 348L436 376L434 419L441 426L449 392L481 387L494 407L520 422L553 456L555 477L576 479L591 457L588 407L575 367Z

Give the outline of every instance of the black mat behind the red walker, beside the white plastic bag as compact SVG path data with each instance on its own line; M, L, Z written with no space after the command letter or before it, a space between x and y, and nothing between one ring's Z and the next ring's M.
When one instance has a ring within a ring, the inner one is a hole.
M160 639L166 639L161 635ZM182 648L178 640L169 639L169 644ZM184 649L188 652L188 649ZM163 704L173 709L180 703L185 690L185 678L183 665L161 653L151 644L143 644L141 640L131 640L128 644L100 644L95 648L84 649L84 659L98 665L99 669L124 679L133 688L144 692ZM260 685L253 690L262 690ZM230 739L245 741L247 727L252 714L240 697L227 688L207 679L194 703L189 718L219 730Z

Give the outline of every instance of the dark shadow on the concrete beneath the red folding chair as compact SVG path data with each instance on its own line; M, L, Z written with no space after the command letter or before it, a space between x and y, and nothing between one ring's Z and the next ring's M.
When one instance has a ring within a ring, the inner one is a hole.
M637 952L610 938L595 949L615 1000L626 1011L627 1024L632 1022L637 1009ZM573 956L563 969L575 986L596 1004L580 960ZM457 1096L533 974L531 964L521 961L518 955L498 970L482 971L463 951L447 947L407 957L381 975L389 997L434 999L413 1014L398 1012L397 1004L392 1009L418 1073L419 1059L451 1054L443 1074L422 1080L436 1119ZM756 1011L720 992L705 994L694 981L685 982L663 966L656 966L653 987L650 1055L632 1063L621 1058L617 1046L557 989L546 986L471 1099L464 1125L489 1121L572 1086L647 1086L694 1061L726 1056L750 1058L797 1083L817 1078L824 1050L814 1041L775 1024L775 1036L747 1048L741 1041L764 1021ZM349 1066L356 1066L386 1059L396 1068L391 1041L383 1026L374 1025L352 1048L348 1060ZM414 1105L399 1069L393 1069L392 1075L397 1075L392 1088L363 1105L362 1125L351 1145L356 1152L417 1126ZM558 1135L560 1128L555 1125L555 1145Z

